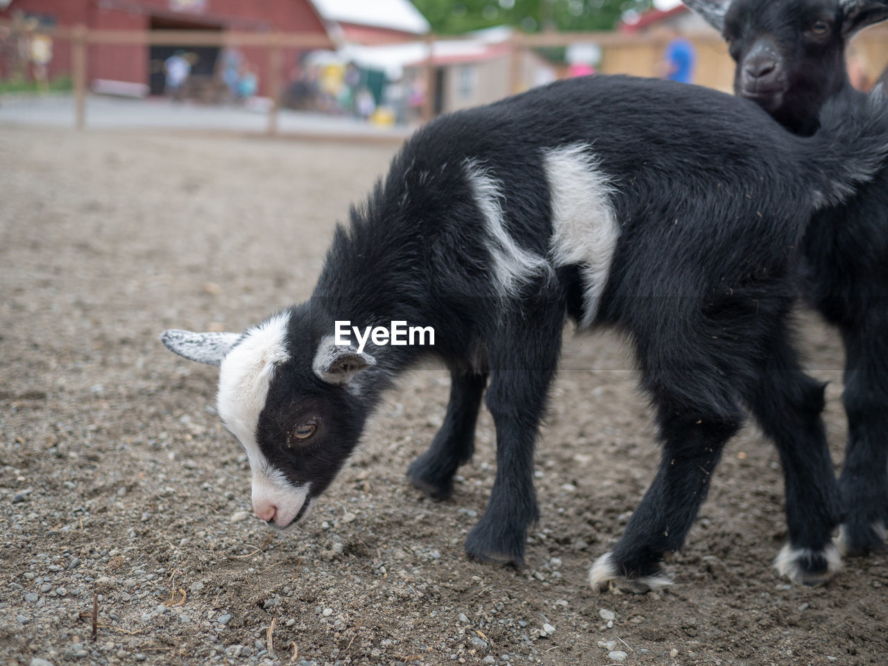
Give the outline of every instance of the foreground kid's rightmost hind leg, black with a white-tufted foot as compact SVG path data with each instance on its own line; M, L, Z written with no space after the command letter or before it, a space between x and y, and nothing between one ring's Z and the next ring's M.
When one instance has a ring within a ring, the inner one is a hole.
M785 332L744 398L783 466L789 543L774 566L795 583L821 584L841 568L832 543L840 495L821 420L823 386L802 372Z

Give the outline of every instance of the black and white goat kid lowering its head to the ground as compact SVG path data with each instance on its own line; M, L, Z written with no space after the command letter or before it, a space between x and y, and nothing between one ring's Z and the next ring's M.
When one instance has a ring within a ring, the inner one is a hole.
M439 358L450 403L409 478L450 495L486 388L496 480L465 547L519 566L565 319L614 326L634 346L662 465L591 584L667 582L662 556L682 545L744 407L783 463L784 571L820 580L837 566L838 490L822 387L799 369L786 319L814 208L847 196L888 152L875 112L843 114L796 137L712 90L600 77L443 116L337 228L309 301L242 334L168 331L163 342L220 365L219 415L248 452L258 517L281 528L329 486L392 377ZM346 319L431 325L435 346L337 346Z

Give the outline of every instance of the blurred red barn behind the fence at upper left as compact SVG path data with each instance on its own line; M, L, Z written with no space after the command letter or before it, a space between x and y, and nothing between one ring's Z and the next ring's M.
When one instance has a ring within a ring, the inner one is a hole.
M28 20L45 27L83 25L97 30L210 30L255 31L327 35L325 21L309 0L0 0L0 19ZM332 41L330 41L332 46ZM216 46L144 46L91 44L87 81L97 80L148 85L163 91L163 60L179 48L194 53L193 74L212 76L220 49ZM244 47L243 63L258 75L259 92L266 90L268 55L265 48ZM284 71L298 58L284 49ZM0 56L2 58L2 56ZM9 64L0 62L0 74ZM71 72L67 41L52 44L48 74L52 79Z

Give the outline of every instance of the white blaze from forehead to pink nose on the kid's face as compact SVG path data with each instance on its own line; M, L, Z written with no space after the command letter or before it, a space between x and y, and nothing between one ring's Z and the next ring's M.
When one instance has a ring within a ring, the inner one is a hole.
M257 428L259 414L265 408L268 387L274 368L289 360L286 349L289 313L281 313L244 334L228 352L219 367L219 416L241 442L253 475L253 506L274 505L278 508L275 522L287 525L308 497L308 485L296 487L284 474L268 463L259 450ZM305 512L304 512L305 513ZM288 520L289 519L289 520Z

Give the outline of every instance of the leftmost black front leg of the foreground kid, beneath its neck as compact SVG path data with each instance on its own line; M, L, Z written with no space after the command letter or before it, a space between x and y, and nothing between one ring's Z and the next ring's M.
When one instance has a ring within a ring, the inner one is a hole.
M449 498L456 469L472 459L475 423L487 382L487 373L450 373L450 402L444 422L428 450L407 471L410 482L432 499Z

